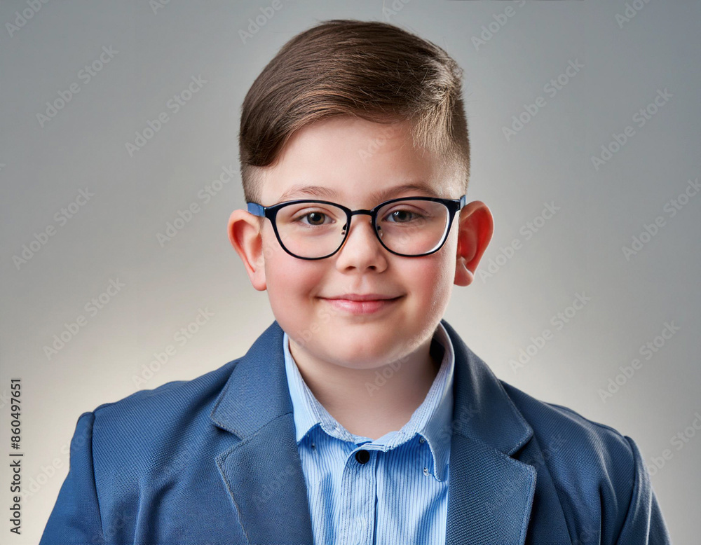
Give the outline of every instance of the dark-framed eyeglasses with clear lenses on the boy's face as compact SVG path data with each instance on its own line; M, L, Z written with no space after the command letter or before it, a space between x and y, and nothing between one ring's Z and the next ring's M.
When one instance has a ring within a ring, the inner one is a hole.
M280 246L300 259L336 254L348 238L351 217L367 214L380 244L397 256L428 256L441 249L453 218L465 206L459 199L404 197L387 200L372 210L350 208L327 200L290 200L263 206L248 202L248 212L268 218Z

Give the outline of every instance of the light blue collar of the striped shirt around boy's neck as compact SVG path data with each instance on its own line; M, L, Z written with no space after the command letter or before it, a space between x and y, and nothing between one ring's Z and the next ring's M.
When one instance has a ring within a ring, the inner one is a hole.
M426 394L426 398L411 415L409 422L402 426L402 429L389 432L375 441L372 441L369 437L362 437L348 432L319 403L299 373L299 368L297 368L297 364L290 353L287 333L283 335L283 350L285 354L287 387L290 391L294 413L295 439L297 439L298 446L311 429L317 426L329 436L341 441L365 443L363 445L364 448L372 448L384 452L400 446L410 439L414 439L416 434L418 434L428 442L431 450L433 476L438 481L444 480L449 462L452 435L451 418L453 413L455 353L443 324L439 322L433 334L431 353L438 354L438 357L440 357L440 352L442 351L442 359L438 373L428 394Z

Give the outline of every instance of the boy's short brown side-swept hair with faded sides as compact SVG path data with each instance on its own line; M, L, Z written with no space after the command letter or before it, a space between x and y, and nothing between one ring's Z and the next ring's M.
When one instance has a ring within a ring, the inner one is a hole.
M257 167L273 165L294 132L332 116L409 120L414 146L456 165L467 191L462 76L442 48L386 22L329 20L297 34L243 101L239 158L246 202L260 202Z

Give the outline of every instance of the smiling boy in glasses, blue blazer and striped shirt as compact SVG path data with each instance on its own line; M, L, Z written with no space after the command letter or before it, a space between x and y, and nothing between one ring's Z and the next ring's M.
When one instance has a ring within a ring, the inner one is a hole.
M229 237L275 322L79 418L48 544L665 544L632 439L442 319L489 244L461 71L380 22L295 36L243 103Z

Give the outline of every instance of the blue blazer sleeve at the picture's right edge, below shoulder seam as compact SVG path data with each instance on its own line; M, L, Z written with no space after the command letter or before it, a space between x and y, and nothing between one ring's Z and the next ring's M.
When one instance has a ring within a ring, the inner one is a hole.
M667 545L672 543L662 516L650 474L635 442L625 436L634 458L633 491L625 521L615 541L620 545Z

